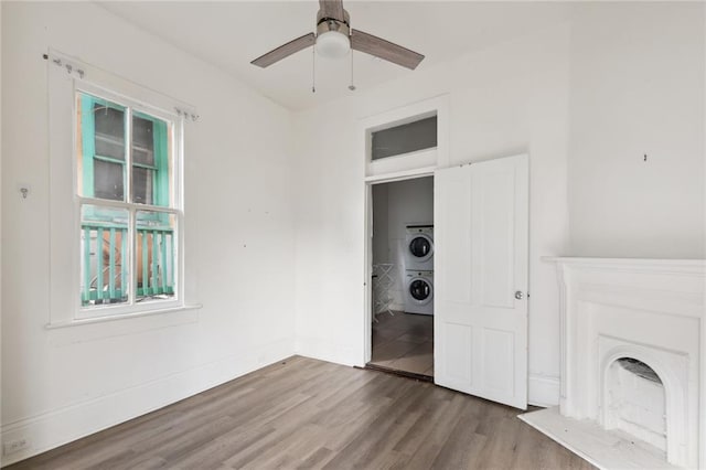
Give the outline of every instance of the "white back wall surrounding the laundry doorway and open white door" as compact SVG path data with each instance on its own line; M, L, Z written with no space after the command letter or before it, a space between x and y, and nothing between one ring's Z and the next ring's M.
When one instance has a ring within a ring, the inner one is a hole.
M365 158L354 150L359 118L449 94L450 164L531 156L530 372L532 389L542 388L535 400L556 399L558 291L554 267L539 258L565 254L568 243L568 85L569 30L558 26L298 114L298 351L363 362ZM339 149L335 156L325 150L331 148Z

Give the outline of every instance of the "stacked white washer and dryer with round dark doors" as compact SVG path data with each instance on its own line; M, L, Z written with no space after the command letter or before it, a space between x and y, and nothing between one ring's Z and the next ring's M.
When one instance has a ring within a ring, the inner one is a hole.
M407 225L405 311L434 314L434 225Z

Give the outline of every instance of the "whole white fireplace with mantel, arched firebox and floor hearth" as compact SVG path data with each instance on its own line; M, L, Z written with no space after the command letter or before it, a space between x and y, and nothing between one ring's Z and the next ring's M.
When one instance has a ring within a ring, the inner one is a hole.
M600 468L706 468L706 261L550 260L559 407L523 419Z

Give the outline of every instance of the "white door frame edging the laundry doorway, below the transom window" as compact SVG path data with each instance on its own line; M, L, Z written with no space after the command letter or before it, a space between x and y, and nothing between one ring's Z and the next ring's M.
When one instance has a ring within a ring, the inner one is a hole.
M364 252L363 261L363 286L364 295L364 314L363 325L364 343L363 343L363 365L371 362L373 355L373 185L383 183L394 183L397 181L416 180L418 178L434 177L437 169L434 167L419 168L415 170L400 171L396 173L381 174L368 177L365 179L365 233L364 233Z

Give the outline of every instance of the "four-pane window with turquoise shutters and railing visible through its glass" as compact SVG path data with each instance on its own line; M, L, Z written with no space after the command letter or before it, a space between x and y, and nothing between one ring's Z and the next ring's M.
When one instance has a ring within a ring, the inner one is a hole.
M81 307L176 299L174 124L126 99L76 92Z

